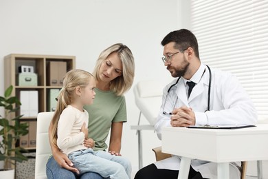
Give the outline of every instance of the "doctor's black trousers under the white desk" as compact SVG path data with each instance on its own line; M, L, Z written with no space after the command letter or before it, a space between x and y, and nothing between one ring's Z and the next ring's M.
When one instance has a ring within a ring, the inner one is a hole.
M179 170L157 169L154 164L151 164L137 171L135 179L177 179L178 175ZM188 179L203 179L203 177L190 166Z

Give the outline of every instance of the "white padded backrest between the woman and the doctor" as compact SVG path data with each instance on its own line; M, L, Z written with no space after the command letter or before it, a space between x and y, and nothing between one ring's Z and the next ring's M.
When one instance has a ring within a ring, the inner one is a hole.
M133 91L135 103L150 125L155 125L164 85L159 81L139 81Z

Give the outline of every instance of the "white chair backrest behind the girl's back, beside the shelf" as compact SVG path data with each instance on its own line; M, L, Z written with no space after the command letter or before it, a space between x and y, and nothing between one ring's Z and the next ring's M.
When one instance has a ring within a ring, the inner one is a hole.
M47 178L45 165L47 159L52 155L49 145L48 127L54 112L41 112L37 115L36 126L36 161L35 161L35 178Z

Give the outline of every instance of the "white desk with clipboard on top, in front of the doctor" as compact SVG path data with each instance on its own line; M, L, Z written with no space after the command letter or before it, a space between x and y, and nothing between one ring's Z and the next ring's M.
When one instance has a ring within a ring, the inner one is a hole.
M268 125L243 129L164 127L162 151L181 156L179 179L188 178L191 158L217 162L218 178L227 179L229 162L268 160Z

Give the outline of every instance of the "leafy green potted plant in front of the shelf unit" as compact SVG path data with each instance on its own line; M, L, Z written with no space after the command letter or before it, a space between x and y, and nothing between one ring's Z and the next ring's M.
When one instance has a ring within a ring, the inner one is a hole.
M21 102L16 96L11 96L12 85L5 90L4 96L0 96L0 107L3 107L5 114L0 114L0 160L3 160L3 169L8 171L14 167L15 162L27 160L27 157L21 154L21 151L26 151L22 147L16 145L19 142L20 136L28 133L28 125L20 123L20 118L23 115L18 115ZM14 178L14 169L13 169Z

